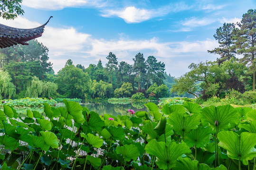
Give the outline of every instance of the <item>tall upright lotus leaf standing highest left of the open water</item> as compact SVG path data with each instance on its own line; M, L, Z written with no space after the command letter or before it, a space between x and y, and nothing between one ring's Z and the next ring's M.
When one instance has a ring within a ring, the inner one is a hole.
M66 99L63 100L63 102L66 105L66 110L68 114L70 114L76 123L84 123L85 118L82 113L82 106L78 102L73 101L66 101Z

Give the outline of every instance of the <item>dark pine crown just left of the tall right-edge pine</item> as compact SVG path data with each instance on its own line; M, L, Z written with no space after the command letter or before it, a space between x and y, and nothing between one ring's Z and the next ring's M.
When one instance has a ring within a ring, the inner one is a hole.
M236 46L234 43L235 35L235 24L224 23L222 27L219 27L214 34L215 40L218 41L219 46L214 50L208 50L208 52L213 54L219 54L220 59L217 59L219 64L223 61L231 59L236 54Z

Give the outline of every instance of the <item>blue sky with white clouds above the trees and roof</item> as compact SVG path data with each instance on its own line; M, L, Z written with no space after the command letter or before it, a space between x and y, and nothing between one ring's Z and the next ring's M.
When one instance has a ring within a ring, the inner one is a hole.
M1 24L32 28L44 24L38 38L49 49L55 72L67 59L88 67L112 51L118 61L133 64L143 53L181 76L190 63L215 60L213 35L226 23L237 23L256 0L23 0L25 13Z

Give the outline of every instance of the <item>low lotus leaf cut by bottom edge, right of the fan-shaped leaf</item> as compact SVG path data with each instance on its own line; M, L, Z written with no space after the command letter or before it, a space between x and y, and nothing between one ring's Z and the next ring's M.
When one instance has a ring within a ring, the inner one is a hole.
M216 168L210 168L204 163L199 163L196 160L191 160L190 158L179 159L176 163L176 167L172 170L227 170L224 165L220 165Z

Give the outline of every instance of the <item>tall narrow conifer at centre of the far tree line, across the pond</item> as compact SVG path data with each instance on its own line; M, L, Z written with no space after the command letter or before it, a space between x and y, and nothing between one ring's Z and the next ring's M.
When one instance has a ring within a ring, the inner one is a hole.
M134 71L137 72L137 77L136 81L138 82L138 90L141 89L141 82L142 82L142 77L146 72L146 64L145 64L145 58L143 57L142 53L138 53L135 55L135 58L133 59L134 64L133 64L133 69Z

